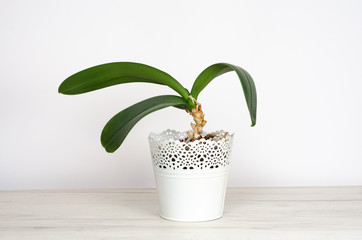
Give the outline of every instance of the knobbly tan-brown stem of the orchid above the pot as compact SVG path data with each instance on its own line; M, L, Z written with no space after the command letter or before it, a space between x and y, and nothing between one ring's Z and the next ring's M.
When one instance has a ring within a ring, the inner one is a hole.
M203 133L203 127L206 124L204 120L205 114L202 112L201 104L197 103L196 107L192 111L186 110L194 119L195 123L191 123L192 132L187 131L188 139L187 141L195 141L200 139Z

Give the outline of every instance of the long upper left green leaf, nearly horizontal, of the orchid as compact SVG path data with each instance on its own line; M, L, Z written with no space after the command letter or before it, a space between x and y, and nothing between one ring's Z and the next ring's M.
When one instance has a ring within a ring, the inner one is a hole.
M169 74L141 63L113 62L87 68L65 79L59 93L81 94L122 83L148 82L167 85L185 100L189 92Z

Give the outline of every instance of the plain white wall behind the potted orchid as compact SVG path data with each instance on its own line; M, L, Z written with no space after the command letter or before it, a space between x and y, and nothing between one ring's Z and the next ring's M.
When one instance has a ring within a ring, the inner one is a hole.
M362 184L361 1L1 1L0 189L154 187L147 136L187 130L165 109L114 154L110 117L163 86L125 84L64 96L58 85L113 61L160 68L190 88L216 62L258 90L250 127L234 73L200 95L208 130L236 133L229 186Z

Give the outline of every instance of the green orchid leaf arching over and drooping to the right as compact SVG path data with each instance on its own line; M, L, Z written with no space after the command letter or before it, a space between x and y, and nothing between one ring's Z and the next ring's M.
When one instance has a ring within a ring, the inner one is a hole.
M211 80L230 71L235 71L240 79L240 83L245 95L246 104L249 109L251 126L255 126L257 107L255 83L250 74L241 67L228 63L217 63L209 66L204 71L202 71L202 73L200 73L200 75L196 78L194 85L191 89L191 95L195 99L197 99L199 93L207 86L207 84L211 82Z

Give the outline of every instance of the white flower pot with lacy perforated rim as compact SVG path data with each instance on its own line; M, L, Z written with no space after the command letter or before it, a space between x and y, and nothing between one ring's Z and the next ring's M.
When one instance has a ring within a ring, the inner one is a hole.
M223 131L219 132L224 135ZM198 222L223 214L233 135L186 143L186 132L151 133L160 215L175 221Z

